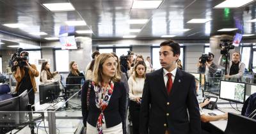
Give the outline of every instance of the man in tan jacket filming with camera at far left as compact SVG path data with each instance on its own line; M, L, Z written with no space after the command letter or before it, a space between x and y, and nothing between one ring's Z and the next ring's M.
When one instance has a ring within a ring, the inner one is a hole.
M19 95L25 90L28 90L29 104L34 105L35 92L37 91L35 77L38 77L39 71L36 70L35 64L28 63L28 52L20 52L20 59L22 59L22 61L13 62L13 66L15 67L13 75L17 80L15 91L17 92L17 95ZM35 110L35 107L32 108Z

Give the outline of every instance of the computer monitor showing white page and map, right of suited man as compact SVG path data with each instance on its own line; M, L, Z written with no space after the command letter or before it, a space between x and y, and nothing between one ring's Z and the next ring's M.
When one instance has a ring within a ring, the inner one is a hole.
M245 100L245 84L242 82L230 82L221 80L220 82L220 98L223 100L244 103Z

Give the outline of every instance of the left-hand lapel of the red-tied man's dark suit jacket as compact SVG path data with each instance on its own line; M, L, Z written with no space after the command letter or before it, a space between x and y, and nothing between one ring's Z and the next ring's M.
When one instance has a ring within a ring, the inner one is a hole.
M157 73L157 77L155 77L155 79L156 79L156 84L159 84L159 89L163 92L164 96L168 98L166 86L164 84L163 68L159 70L159 72Z

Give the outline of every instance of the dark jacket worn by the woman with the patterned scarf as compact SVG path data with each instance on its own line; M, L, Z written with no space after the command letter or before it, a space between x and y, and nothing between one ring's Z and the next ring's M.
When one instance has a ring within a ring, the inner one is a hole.
M82 87L82 114L83 114L83 123L86 126L86 121L96 127L97 119L100 115L100 109L96 107L95 104L95 91L92 88L90 91L90 103L89 108L87 107L87 91L90 80L86 80ZM104 110L104 116L106 121L107 128L116 126L120 123L123 124L123 131L126 133L125 127L125 108L126 108L126 92L123 82L114 83L113 94L109 100L108 107Z

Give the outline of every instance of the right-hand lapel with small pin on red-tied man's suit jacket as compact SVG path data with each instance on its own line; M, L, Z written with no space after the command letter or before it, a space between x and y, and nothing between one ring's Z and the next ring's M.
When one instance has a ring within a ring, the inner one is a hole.
M179 68L177 68L177 72L175 75L175 79L173 81L173 86L172 86L170 96L172 96L176 91L179 90L179 86L182 83L182 75L183 75L182 71L180 71Z

